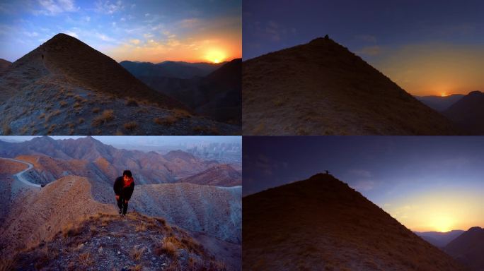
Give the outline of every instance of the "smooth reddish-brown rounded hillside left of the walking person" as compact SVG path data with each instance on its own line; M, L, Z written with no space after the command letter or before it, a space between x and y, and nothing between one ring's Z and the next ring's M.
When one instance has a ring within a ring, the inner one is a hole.
M0 230L0 255L37 246L67 224L97 212L115 213L113 205L96 202L86 178L66 176L13 204Z

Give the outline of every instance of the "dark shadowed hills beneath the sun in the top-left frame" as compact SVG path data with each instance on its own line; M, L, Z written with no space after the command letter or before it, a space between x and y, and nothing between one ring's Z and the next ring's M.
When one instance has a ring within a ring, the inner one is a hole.
M197 114L208 116L217 121L231 124L241 122L241 59L226 62L204 77L183 78L165 71L166 65L175 65L175 62L161 64L146 64L123 61L124 66L139 80L154 90L183 102L185 106ZM163 66L164 65L164 66ZM180 64L178 64L180 65ZM182 66L185 66L183 64ZM190 68L202 64L192 64ZM208 65L208 64L207 64ZM202 66L203 67L203 66ZM207 71L207 68L204 68ZM173 71L173 73L175 73Z

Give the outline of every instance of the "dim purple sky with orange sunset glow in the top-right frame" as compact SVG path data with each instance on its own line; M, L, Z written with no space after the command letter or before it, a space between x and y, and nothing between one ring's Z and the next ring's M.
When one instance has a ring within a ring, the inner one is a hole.
M243 59L330 38L413 95L484 91L484 1L243 1Z

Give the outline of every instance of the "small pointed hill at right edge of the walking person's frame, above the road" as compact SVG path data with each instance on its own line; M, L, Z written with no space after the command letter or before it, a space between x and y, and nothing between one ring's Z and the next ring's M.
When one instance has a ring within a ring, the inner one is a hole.
M197 183L204 186L241 186L242 174L229 164L216 164L199 174L180 179L178 183Z

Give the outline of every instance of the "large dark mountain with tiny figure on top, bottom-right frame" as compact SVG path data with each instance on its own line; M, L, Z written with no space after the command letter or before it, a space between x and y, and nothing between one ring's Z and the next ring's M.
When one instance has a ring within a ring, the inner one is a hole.
M243 198L243 270L463 270L329 174Z

